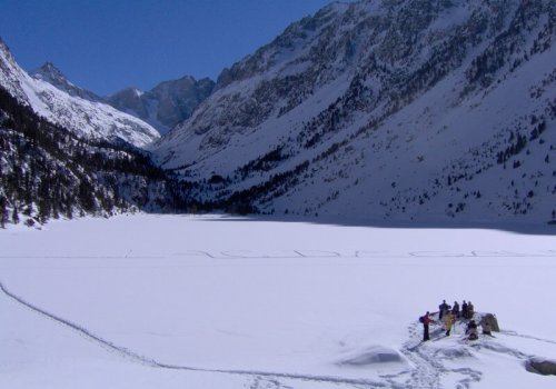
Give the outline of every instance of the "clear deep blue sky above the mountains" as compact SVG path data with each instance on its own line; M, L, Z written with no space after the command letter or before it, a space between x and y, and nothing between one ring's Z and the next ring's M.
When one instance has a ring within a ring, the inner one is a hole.
M210 77L332 0L1 0L0 37L26 70L46 61L106 96Z

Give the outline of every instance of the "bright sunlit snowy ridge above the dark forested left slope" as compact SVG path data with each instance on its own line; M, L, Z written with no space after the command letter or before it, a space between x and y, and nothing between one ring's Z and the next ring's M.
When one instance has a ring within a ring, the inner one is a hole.
M0 86L38 114L79 136L107 140L120 138L135 146L145 146L159 138L157 130L130 114L99 101L71 96L42 79L30 77L2 41Z

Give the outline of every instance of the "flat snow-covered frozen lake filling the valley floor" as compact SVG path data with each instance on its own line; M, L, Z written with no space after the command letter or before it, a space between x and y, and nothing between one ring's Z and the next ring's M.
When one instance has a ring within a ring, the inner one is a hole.
M0 388L554 388L556 235L221 216L0 231ZM443 299L503 332L415 348Z

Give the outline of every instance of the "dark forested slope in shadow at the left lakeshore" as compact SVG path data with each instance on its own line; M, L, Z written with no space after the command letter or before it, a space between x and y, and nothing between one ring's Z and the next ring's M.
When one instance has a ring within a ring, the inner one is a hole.
M136 209L176 212L182 196L145 150L78 137L0 87L0 229Z

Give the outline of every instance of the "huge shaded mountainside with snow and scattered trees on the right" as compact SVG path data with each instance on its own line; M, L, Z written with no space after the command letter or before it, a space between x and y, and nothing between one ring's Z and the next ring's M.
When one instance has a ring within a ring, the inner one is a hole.
M549 0L335 3L225 70L151 150L230 207L546 222L555 38Z

